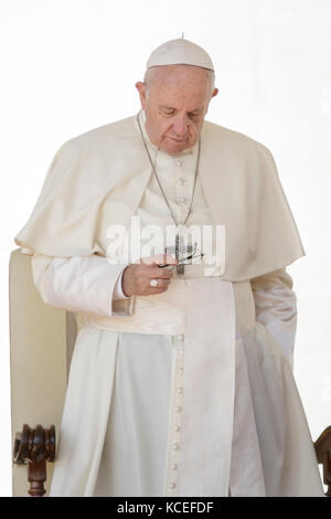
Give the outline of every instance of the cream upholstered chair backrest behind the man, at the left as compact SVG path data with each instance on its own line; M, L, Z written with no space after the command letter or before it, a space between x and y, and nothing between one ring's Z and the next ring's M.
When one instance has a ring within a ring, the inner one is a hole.
M44 304L33 283L31 257L17 248L9 262L11 437L14 442L24 423L54 424L58 441L76 319ZM52 474L47 463L46 495ZM26 466L13 464L13 496L26 497L28 488Z

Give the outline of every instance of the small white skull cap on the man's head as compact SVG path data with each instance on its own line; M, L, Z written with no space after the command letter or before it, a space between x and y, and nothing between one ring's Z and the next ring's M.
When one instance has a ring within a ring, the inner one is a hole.
M158 46L149 56L147 68L160 65L194 65L214 71L209 54L195 43L183 38L170 40Z

